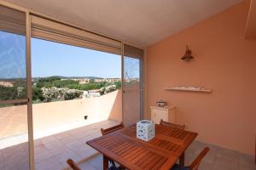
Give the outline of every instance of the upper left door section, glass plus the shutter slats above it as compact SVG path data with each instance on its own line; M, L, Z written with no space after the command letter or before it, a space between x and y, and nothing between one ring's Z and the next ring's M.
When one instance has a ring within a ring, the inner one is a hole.
M0 100L26 99L26 14L0 5Z

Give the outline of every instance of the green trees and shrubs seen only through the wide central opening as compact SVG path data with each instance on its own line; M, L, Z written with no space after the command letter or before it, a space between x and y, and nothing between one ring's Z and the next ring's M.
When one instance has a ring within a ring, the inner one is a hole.
M79 81L73 79L61 80L60 77L44 77L33 82L32 99L34 102L53 101L61 99L78 99L83 91L93 89L107 89L107 94L113 91L113 88L106 88L114 85L115 89L121 88L121 82L95 82L90 79L88 83L80 84ZM68 90L69 89L69 90Z

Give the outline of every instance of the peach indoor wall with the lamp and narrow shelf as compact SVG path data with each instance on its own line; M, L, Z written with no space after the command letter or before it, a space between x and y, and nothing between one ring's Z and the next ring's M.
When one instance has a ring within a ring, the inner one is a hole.
M248 6L240 3L148 48L147 117L149 106L164 99L177 106L177 122L199 133L198 140L254 154L256 40L244 38ZM186 44L191 62L180 59ZM213 92L164 90L175 86Z

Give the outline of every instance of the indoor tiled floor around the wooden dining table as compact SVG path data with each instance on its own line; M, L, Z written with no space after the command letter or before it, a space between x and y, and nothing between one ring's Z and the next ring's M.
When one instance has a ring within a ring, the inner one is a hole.
M255 170L254 157L227 150L212 144L193 142L185 152L185 165L189 165L200 151L210 147L210 152L201 162L200 170ZM83 170L102 170L102 155L96 155L79 164Z

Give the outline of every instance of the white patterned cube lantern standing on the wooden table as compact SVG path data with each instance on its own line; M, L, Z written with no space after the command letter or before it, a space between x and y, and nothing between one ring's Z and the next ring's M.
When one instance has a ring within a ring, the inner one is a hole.
M149 141L154 138L154 123L148 120L137 122L137 139Z

